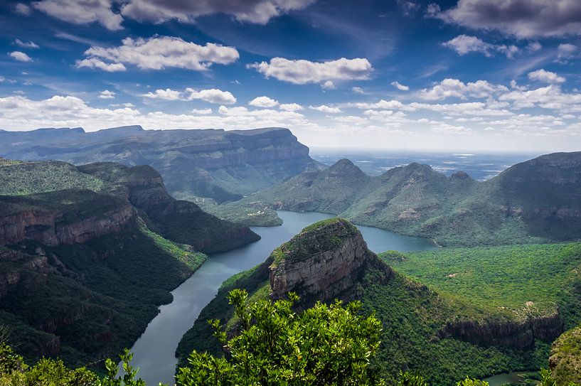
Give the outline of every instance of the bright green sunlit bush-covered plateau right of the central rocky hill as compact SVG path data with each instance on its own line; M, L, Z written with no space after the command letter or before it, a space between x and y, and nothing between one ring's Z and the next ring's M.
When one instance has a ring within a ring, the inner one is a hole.
M489 313L555 312L581 322L581 244L511 245L380 254L399 272Z

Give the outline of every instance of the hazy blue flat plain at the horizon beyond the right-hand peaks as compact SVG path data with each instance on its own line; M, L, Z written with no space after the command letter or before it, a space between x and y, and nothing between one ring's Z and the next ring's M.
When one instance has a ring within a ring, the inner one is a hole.
M457 171L465 171L472 178L484 181L499 174L515 163L533 159L540 154L468 154L417 151L356 151L345 149L311 149L311 157L316 161L332 165L339 159L350 159L370 176L378 176L390 168L405 166L412 162L427 163L435 171L451 176Z

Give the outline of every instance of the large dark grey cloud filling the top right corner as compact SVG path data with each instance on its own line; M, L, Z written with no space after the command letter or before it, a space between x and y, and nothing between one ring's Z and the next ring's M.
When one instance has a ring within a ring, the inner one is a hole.
M518 38L581 34L581 2L577 0L459 0L446 11L432 4L427 16Z

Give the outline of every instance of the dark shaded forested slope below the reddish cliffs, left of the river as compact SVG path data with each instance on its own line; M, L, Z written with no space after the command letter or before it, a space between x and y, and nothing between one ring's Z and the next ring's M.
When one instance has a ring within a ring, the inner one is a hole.
M19 282L1 299L0 324L27 360L58 354L68 365L132 345L206 259L142 223L81 245L24 242L11 253L18 259L3 260L0 272L17 273Z

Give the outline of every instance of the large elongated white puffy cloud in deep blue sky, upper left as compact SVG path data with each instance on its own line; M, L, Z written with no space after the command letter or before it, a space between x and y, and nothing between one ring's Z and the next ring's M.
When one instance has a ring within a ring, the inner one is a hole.
M78 60L77 67L100 68L106 71L125 70L124 65L137 65L144 70L186 68L204 71L213 64L230 64L238 60L238 50L233 47L183 41L171 36L152 38L124 38L119 47L91 47L85 51L87 58Z

